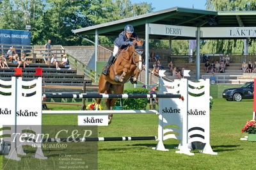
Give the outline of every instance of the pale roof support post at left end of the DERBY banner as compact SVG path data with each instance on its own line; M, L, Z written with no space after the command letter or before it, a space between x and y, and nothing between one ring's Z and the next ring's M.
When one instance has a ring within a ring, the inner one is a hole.
M148 35L148 23L145 24L145 85L148 85L148 55L149 55L149 35Z

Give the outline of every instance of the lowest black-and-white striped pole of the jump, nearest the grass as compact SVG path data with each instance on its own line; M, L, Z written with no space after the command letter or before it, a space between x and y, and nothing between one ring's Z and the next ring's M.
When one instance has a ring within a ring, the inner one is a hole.
M136 137L84 137L84 138L47 138L42 139L45 143L54 142L92 142L92 141L147 141L156 140L156 136L136 136Z

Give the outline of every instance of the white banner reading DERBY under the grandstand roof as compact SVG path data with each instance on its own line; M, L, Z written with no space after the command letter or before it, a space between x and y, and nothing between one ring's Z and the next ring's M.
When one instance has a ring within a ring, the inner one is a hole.
M196 37L196 27L148 24L150 35Z

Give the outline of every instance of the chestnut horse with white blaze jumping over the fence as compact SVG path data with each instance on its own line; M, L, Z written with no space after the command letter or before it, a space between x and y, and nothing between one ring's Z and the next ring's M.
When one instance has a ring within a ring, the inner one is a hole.
M130 79L133 82L138 80L138 76L143 69L143 40L134 40L133 44L121 50L113 64L109 66L108 75L101 74L99 79L98 93L122 94L124 84ZM105 68L105 67L104 67ZM104 70L103 68L103 70ZM105 103L108 110L113 109L117 98L107 98ZM101 98L97 98L96 110L99 108ZM109 123L113 114L109 114Z

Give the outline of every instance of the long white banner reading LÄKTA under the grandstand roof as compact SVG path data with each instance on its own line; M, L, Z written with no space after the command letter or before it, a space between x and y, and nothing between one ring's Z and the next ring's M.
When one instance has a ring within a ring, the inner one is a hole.
M256 27L201 27L202 38L256 37Z

